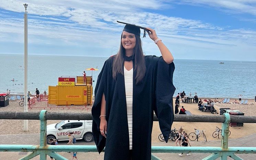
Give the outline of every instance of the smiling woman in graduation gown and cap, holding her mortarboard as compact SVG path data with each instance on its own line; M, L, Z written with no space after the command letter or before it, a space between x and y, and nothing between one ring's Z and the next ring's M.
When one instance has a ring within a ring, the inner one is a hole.
M174 119L174 58L155 30L123 24L119 52L105 61L97 79L93 138L99 153L105 147L105 160L149 160L154 112L166 143ZM162 56L143 55L140 28Z

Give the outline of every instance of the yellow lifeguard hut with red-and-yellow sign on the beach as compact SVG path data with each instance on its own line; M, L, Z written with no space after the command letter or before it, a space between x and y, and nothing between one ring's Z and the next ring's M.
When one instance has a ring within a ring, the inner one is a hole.
M61 76L58 85L48 86L48 103L92 105L92 76Z

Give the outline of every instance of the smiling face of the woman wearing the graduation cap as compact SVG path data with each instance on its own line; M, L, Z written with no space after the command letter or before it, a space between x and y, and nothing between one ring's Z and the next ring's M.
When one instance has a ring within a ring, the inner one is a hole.
M136 38L135 35L126 31L123 31L122 45L125 50L133 50L135 48Z

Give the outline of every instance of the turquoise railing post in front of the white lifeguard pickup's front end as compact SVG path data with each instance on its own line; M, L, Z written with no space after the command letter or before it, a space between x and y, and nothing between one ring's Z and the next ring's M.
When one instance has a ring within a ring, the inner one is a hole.
M41 110L39 119L40 119L40 147L46 147L46 129L47 129L47 120L45 119L47 110ZM46 150L45 152L40 153L40 160L46 160Z

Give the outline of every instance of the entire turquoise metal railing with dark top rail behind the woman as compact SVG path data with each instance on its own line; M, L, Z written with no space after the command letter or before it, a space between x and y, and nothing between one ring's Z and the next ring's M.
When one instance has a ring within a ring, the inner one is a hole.
M46 124L47 120L92 120L92 115L88 113L58 113L47 112L0 112L0 119L27 119L40 120L40 145L0 145L0 151L25 151L32 152L20 160L28 160L40 155L40 160L46 160L49 155L55 159L68 160L56 152L76 151L76 152L97 152L96 146L92 145L47 145L46 143ZM158 121L154 116L154 121ZM256 123L256 116L232 116L223 114L221 116L204 116L204 115L175 115L176 122L218 122L222 123L222 139L220 147L174 147L174 146L152 146L152 153L212 153L205 157L204 160L227 159L231 157L235 160L241 160L235 154L255 154L256 147L228 147L229 140L229 123ZM160 160L155 155L151 155L152 160Z

